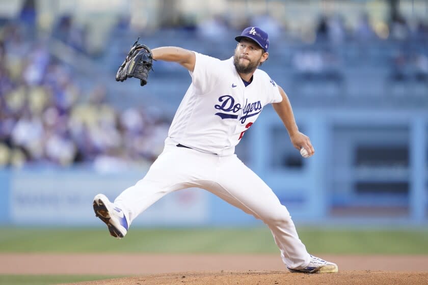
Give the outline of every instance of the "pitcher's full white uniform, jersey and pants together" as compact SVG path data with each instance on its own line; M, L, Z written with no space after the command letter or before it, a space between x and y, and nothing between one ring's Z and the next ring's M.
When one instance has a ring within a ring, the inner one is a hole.
M262 108L282 97L268 74L256 70L247 87L233 65L196 53L192 84L169 130L165 148L146 176L124 190L114 206L128 225L163 196L205 189L269 226L289 268L305 268L311 256L285 206L272 189L233 154ZM181 144L189 148L178 148ZM218 154L218 155L213 155Z

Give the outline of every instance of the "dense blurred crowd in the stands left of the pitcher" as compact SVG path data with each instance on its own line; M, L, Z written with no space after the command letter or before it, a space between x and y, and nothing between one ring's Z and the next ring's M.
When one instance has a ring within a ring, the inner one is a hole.
M72 69L22 29L0 32L0 167L86 163L110 171L155 159L168 131L161 112L119 110L103 86L82 90Z

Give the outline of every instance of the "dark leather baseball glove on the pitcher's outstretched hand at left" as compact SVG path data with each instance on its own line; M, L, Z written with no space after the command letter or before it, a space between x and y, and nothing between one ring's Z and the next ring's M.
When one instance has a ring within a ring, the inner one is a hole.
M147 77L150 70L153 70L153 54L150 48L143 44L138 44L138 40L132 45L125 61L119 67L116 73L116 81L123 82L128 77L136 77L140 79L140 85L147 84Z

